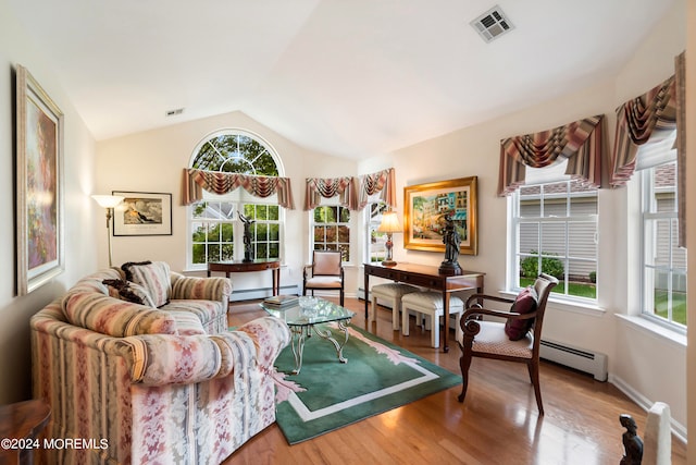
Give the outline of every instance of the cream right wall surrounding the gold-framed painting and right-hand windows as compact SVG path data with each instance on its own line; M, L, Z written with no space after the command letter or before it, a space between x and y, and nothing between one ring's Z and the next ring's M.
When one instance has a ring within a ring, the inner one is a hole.
M489 293L506 284L507 200L496 195L499 142L502 138L543 131L594 114L605 114L607 160L613 147L614 109L631 97L658 85L674 72L674 57L686 44L685 1L678 1L632 60L620 68L616 78L573 95L543 101L514 114L426 140L364 161L359 172L394 166L397 192L407 185L478 176L478 256L460 255L464 269L486 273ZM693 81L693 79L692 79ZM637 176L636 176L637 178ZM609 355L610 381L647 407L652 402L670 404L678 432L685 435L686 378L683 343L657 336L616 315L639 313L636 290L629 279L637 277L632 261L639 253L629 241L635 230L637 182L621 189L599 194L599 308L584 309L550 303L544 326L545 339L599 351ZM403 199L399 198L402 213ZM634 234L635 235L635 234ZM402 237L395 236L395 259L437 265L442 254L405 250Z

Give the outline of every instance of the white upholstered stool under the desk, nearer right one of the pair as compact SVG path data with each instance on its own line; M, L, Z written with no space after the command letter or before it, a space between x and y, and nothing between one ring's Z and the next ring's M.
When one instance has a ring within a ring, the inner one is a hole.
M443 305L443 294L439 292L414 292L401 297L401 332L403 335L409 335L409 310L417 311L418 314L427 315L432 321L431 330L431 346L439 347L439 317L443 316L445 308ZM464 313L464 303L461 298L450 295L449 296L449 315L457 315L457 323L455 325L455 331L457 333L457 340L460 341L463 338L461 327L459 326L459 318ZM420 317L417 315L417 321ZM447 322L445 322L447 325Z

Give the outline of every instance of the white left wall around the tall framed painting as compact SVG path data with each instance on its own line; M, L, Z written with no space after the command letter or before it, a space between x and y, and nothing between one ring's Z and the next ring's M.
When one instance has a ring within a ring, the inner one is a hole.
M10 7L0 0L0 404L32 397L29 318L96 269L95 142L54 77L50 59L33 47ZM65 271L29 295L15 296L14 68L22 64L64 113ZM94 205L92 205L94 204Z

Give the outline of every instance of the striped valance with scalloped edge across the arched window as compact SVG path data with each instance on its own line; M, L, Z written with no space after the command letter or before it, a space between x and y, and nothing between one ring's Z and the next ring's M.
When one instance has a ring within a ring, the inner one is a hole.
M293 189L288 178L253 176L238 173L223 173L219 171L203 171L184 169L184 188L182 203L190 205L203 198L203 191L214 194L227 194L243 187L256 197L270 197L277 194L278 205L295 209Z

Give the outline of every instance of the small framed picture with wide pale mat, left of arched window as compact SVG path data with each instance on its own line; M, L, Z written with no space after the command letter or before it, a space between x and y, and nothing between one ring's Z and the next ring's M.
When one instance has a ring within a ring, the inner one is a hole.
M113 212L113 235L172 235L172 194L112 191L124 197Z

